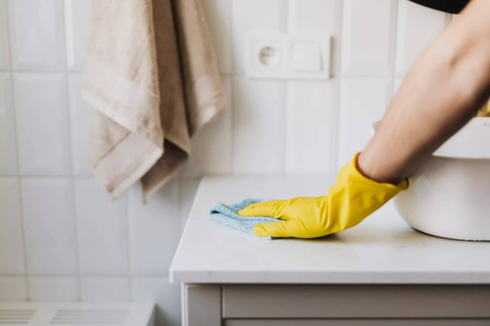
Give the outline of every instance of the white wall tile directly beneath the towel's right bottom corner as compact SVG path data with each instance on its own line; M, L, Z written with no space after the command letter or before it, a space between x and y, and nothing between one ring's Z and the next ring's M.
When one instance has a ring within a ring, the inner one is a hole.
M178 180L143 203L141 185L128 193L131 269L135 274L166 273L180 240Z

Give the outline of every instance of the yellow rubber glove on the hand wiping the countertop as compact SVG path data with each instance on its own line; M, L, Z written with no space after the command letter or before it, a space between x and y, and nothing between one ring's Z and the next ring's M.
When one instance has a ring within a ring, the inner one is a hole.
M395 186L368 179L357 170L358 155L340 170L326 196L265 201L238 214L283 220L257 224L253 232L261 237L316 238L348 229L408 187L406 180Z

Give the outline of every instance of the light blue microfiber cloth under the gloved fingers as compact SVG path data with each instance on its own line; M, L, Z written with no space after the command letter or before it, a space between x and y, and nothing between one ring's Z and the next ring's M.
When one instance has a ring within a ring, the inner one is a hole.
M221 224L228 225L231 226L232 228L257 236L255 233L253 233L253 227L255 225L263 222L278 222L281 220L278 218L266 217L266 216L245 217L245 216L238 215L237 212L250 204L258 203L261 201L268 201L268 200L270 199L247 198L234 205L216 203L213 205L209 213L211 214L212 219L214 219L217 222L220 222ZM268 240L277 239L272 237L261 237L261 238L266 238Z

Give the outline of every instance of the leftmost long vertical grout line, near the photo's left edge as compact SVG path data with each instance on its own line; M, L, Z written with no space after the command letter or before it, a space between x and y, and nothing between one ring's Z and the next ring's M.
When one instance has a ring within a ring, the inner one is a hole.
M17 155L17 172L20 174L21 173L21 163L20 163L20 154L19 154L19 135L17 131L17 110L16 110L16 103L15 103L15 86L14 86L14 60L12 58L12 36L10 35L10 10L9 10L9 1L5 1L5 6L7 10L7 38L9 42L9 57L10 57L10 86L12 93L10 94L11 100L12 100L12 110L13 110L13 126L14 126L14 132L15 132L15 152ZM27 263L27 240L25 237L25 220L24 220L24 205L23 205L23 198L22 198L22 182L21 182L21 176L19 175L17 177L17 185L19 187L19 208L20 208L20 224L21 224L21 237L22 237L22 244L23 244L23 258L24 258L24 282L25 282L25 300L29 301L29 278L28 278L28 263Z

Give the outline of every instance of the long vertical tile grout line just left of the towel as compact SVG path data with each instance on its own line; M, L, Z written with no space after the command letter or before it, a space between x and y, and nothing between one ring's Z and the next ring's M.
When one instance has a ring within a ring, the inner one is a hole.
M69 142L69 147L70 147L70 181L72 185L72 209L73 209L73 238L74 238L74 249L75 249L75 270L76 270L76 290L77 290L77 301L81 301L81 285L80 285L80 259L79 259L79 248L78 248L78 223L77 223L77 210L76 210L76 197L75 197L75 178L74 178L74 170L73 170L73 137L72 137L72 131L73 131L73 126L72 126L72 111L71 111L71 92L69 89L70 86L70 74L69 74L69 69L68 69L68 55L67 55L67 37L68 33L66 30L66 25L67 25L67 18L68 18L68 2L63 1L63 36L64 36L64 57L65 57L65 69L64 73L66 75L66 83L65 83L65 91L66 91L66 98L67 98L67 112L68 112L68 142Z

